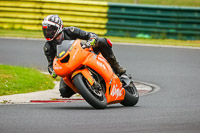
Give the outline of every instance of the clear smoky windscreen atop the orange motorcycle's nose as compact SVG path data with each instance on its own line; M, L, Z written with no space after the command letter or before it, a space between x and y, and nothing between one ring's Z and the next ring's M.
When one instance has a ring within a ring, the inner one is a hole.
M61 45L57 45L57 58L62 58L65 53L70 49L75 40L64 40Z

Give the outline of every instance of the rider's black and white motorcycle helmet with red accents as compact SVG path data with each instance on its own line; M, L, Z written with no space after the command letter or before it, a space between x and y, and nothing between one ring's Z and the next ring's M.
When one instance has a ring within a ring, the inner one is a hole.
M58 15L49 15L42 22L42 30L47 41L52 41L63 30L63 22Z

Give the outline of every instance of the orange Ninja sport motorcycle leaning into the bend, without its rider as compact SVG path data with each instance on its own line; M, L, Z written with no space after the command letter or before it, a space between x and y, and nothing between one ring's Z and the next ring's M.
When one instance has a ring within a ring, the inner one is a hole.
M57 46L53 69L64 82L79 93L93 108L108 104L134 106L139 94L126 74L117 76L101 53L94 53L81 40L64 40Z

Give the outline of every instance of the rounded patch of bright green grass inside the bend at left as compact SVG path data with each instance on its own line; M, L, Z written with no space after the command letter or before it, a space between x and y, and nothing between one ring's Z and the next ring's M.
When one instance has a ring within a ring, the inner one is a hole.
M0 65L0 96L53 89L50 76L33 68Z

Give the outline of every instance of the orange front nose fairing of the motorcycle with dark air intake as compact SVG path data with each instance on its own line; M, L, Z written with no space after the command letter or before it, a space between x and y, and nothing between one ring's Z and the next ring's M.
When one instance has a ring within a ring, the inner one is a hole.
M89 52L82 49L80 40L74 41L67 50L62 50L62 46L57 46L60 53L54 59L53 69L58 76L66 77L83 66L82 62L85 61Z

